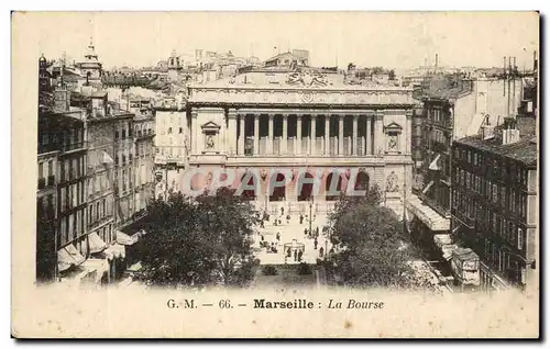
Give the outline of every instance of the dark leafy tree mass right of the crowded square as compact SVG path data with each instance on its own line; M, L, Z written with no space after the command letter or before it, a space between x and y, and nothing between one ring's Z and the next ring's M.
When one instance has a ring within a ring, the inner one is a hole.
M381 205L377 187L365 196L341 196L333 213L330 239L338 252L330 257L345 284L353 286L407 286L410 268L402 223Z

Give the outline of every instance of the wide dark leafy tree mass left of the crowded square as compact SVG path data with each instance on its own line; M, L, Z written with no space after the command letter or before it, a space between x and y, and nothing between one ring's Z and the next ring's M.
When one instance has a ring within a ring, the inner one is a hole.
M195 200L179 193L156 200L140 246L141 280L155 285L244 285L257 260L252 235L260 214L233 191Z

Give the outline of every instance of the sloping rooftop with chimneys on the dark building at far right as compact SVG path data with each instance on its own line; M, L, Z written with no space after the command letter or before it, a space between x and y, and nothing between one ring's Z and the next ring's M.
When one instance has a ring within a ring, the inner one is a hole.
M495 130L495 134L497 132ZM527 166L537 166L537 137L532 135L520 136L518 142L506 145L503 145L501 137L483 139L481 135L464 137L457 143L507 157Z

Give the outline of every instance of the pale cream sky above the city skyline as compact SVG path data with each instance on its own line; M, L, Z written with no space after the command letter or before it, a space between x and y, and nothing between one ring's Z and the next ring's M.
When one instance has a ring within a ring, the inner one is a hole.
M156 65L173 49L184 59L201 48L264 60L301 48L314 66L407 69L438 54L441 66L477 67L515 56L521 69L539 45L534 12L26 12L13 23L48 59L66 52L78 61L92 36L106 68Z

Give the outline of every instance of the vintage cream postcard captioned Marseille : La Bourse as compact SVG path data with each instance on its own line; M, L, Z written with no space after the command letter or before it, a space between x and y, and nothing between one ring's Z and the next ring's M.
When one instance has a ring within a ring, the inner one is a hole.
M12 336L538 338L537 12L13 12Z

